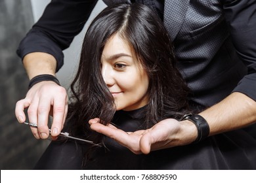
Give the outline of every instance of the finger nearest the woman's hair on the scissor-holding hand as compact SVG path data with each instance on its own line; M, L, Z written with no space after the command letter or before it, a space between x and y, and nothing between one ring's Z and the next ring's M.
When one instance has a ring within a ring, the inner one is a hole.
M66 114L68 112L68 99L66 90L60 88L58 97L55 97L53 102L53 125L51 127L51 135L56 137L64 126Z

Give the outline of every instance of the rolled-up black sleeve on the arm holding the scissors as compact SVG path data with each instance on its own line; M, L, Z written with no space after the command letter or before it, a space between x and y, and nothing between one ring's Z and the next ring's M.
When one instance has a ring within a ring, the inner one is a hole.
M46 52L63 65L62 50L68 48L87 22L97 0L52 0L17 49L20 58L31 52Z

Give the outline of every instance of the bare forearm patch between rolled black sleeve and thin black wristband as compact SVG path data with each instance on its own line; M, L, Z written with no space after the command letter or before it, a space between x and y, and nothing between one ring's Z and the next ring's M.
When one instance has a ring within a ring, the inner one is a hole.
M55 75L56 59L51 54L43 52L27 54L23 64L30 79L43 74Z

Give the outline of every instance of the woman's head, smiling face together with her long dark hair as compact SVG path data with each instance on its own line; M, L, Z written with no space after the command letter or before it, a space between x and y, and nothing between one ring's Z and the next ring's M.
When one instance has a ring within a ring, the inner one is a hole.
M79 116L77 124L84 129L93 118L106 125L116 110L145 105L144 127L167 116L180 119L188 88L175 65L167 31L150 8L137 3L107 7L85 35L69 112Z

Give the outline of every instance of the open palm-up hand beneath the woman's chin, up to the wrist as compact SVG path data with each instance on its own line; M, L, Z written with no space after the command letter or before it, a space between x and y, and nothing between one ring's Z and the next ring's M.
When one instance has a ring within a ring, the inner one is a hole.
M190 144L197 136L196 126L187 120L166 119L150 129L135 132L125 132L112 124L102 125L97 118L90 120L89 124L94 131L114 139L135 154Z

